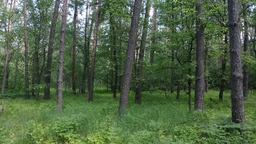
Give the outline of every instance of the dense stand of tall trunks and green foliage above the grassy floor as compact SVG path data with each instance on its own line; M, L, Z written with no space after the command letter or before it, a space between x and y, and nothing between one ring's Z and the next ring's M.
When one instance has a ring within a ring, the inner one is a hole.
M136 104L159 94L202 111L204 100L231 95L232 121L245 124L256 1L0 0L0 70L1 97L51 99L58 111L68 105L62 91L92 103L101 92L120 98L119 116L129 92Z

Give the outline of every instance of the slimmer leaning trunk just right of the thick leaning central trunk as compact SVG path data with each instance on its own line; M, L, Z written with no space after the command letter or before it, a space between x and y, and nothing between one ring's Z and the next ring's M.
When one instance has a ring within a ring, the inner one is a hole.
M146 12L145 12L145 16L144 16L142 36L141 36L141 46L140 46L140 52L139 52L139 58L138 58L138 72L136 75L136 77L138 79L138 83L136 84L136 90L135 90L135 102L137 104L141 104L144 52L145 52L146 39L147 39L147 34L148 34L148 19L149 19L150 8L151 8L151 0L147 0Z

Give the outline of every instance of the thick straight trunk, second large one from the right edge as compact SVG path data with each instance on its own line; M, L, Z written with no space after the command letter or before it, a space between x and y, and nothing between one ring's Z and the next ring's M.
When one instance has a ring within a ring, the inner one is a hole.
M196 50L196 86L195 86L195 110L204 110L204 35L203 35L203 0L196 3L197 17L197 50Z

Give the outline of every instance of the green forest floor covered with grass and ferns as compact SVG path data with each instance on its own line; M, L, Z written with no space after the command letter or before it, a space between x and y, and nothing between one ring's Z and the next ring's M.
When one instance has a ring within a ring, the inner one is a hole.
M92 103L85 94L63 92L62 113L52 94L48 101L43 94L39 101L0 99L5 107L0 144L256 144L256 91L244 102L246 127L231 122L230 92L224 92L222 102L218 91L206 93L205 111L190 111L185 92L178 101L176 93L166 98L164 92L143 92L141 105L131 92L128 114L121 118L119 94L114 99L105 89L95 90Z

